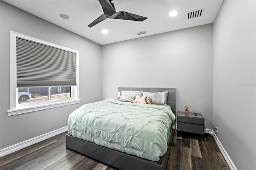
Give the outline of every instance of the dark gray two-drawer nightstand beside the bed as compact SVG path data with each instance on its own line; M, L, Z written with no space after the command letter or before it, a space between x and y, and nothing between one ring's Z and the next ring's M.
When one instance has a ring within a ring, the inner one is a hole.
M200 113L178 112L177 130L191 133L204 134L204 117ZM178 135L178 133L177 133Z

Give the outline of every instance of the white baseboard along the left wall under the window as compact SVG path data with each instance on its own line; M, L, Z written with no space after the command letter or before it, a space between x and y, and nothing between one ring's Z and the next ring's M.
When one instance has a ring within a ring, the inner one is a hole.
M25 141L17 143L17 144L14 144L14 145L9 146L7 148L3 148L3 149L0 150L0 157L5 156L7 154L10 154L12 152L15 152L17 150L20 150L22 148L26 148L27 146L30 146L32 144L41 142L42 140L48 139L52 136L56 136L57 134L60 134L60 133L66 132L66 131L68 131L68 126L53 130L51 132L42 134L40 136L36 136L34 138L25 140Z

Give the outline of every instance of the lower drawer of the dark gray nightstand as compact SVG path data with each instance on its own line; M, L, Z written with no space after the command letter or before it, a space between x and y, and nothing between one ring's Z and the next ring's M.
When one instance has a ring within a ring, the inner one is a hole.
M179 122L177 130L204 134L204 125Z

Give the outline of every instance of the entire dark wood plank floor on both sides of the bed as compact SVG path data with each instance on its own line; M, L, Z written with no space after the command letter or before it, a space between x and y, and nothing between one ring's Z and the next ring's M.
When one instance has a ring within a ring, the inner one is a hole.
M1 170L114 170L76 152L66 150L65 134L18 150L0 158ZM229 169L211 137L180 132L174 135L168 170Z

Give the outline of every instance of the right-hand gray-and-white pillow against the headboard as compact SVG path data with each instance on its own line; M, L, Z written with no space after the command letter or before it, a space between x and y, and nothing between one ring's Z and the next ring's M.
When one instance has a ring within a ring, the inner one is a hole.
M167 105L168 91L163 92L143 92L143 95L151 97L152 104Z

